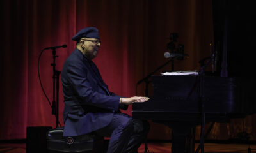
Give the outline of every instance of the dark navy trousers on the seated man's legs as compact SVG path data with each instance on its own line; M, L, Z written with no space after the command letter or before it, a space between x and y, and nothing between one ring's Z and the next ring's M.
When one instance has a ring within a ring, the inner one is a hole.
M147 121L132 119L124 113L115 113L111 123L95 131L100 136L110 137L108 153L136 153L148 135Z

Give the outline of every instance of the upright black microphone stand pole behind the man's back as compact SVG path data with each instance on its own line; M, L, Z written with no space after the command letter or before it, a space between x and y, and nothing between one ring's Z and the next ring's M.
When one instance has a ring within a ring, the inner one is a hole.
M51 64L52 70L53 70L53 95L52 95L52 115L56 116L56 128L58 128L58 125L60 124L59 122L59 78L60 78L60 71L56 70L56 48L52 48L52 58L53 58L53 63ZM56 84L56 86L55 86ZM56 101L55 101L55 93L56 93Z

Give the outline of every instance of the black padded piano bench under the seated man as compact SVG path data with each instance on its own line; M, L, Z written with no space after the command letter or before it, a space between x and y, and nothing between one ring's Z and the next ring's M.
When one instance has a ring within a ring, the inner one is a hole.
M108 149L103 137L93 133L81 136L63 136L63 127L51 129L47 132L47 150L51 153L79 152L102 153Z

